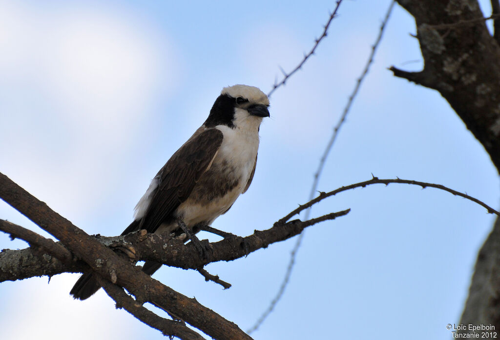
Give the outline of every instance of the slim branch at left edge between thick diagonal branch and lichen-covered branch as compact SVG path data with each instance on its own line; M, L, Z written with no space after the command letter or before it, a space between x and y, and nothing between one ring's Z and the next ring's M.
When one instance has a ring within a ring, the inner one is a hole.
M50 239L46 239L35 232L18 226L14 223L0 220L0 231L10 234L10 238L13 240L15 238L21 239L29 243L30 246L38 247L48 254L54 256L62 263L68 263L72 260L71 253L60 244L55 243Z

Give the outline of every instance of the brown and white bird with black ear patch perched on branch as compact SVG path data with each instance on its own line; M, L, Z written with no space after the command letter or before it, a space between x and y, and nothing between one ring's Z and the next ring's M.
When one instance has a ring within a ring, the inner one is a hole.
M195 234L225 214L252 182L268 107L267 95L257 87L224 87L203 124L151 180L121 235L142 229L180 234L181 226ZM146 261L142 271L152 275L160 267ZM69 294L85 300L99 288L94 274L84 273Z

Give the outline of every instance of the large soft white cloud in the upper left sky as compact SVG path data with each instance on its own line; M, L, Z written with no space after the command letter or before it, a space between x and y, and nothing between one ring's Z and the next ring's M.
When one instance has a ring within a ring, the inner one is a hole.
M95 189L116 185L100 163L123 157L178 78L171 44L105 7L0 2L0 50L2 171L24 173L61 212L88 213Z

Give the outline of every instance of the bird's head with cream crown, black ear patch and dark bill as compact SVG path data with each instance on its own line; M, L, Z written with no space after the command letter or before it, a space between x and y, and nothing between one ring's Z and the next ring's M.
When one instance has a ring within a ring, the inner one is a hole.
M206 127L226 125L231 128L246 125L258 129L263 117L269 117L269 99L257 87L233 85L224 87L213 103L205 121Z

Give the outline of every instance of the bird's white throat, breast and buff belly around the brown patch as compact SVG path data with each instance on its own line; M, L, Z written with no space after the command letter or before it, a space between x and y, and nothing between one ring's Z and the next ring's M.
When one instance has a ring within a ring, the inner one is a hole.
M184 223L193 226L201 222L211 224L223 214L243 192L255 164L258 150L258 127L261 117L248 115L243 109L236 108L233 123L235 128L217 125L224 138L213 161L213 166L225 160L227 166L236 169L234 176L239 183L224 196L213 199L209 204L196 204L186 200L177 209L184 216ZM166 227L166 226L165 226ZM163 229L164 230L164 229Z

